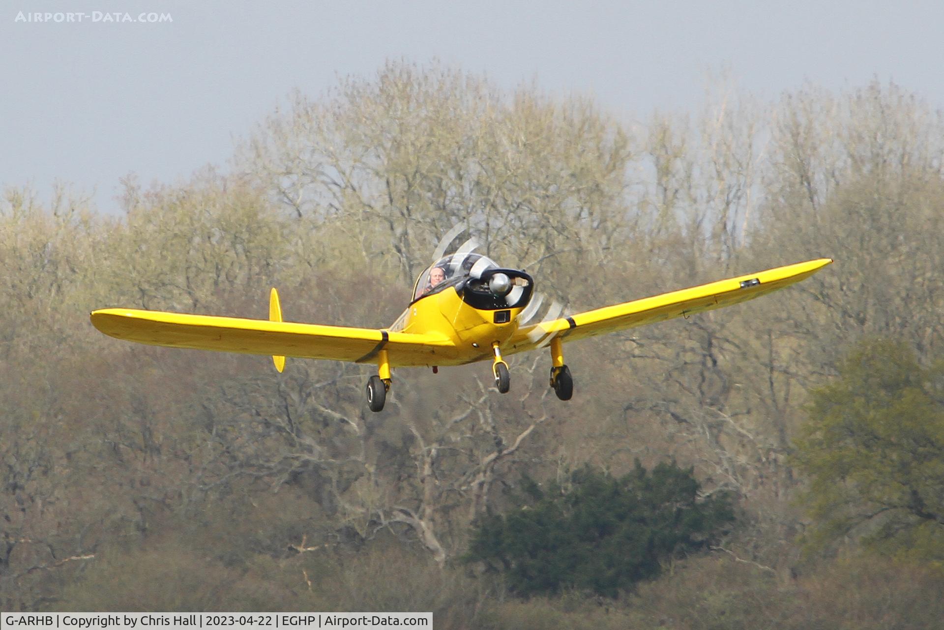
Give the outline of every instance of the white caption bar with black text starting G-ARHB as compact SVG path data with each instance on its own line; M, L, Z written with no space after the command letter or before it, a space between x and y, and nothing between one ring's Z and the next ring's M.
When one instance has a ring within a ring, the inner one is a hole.
M98 630L105 628L432 628L431 612L56 612L0 613L0 630L14 628L64 628Z

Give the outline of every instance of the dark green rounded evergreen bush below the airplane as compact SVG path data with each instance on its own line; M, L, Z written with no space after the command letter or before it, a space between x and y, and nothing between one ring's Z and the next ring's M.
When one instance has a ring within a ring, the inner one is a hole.
M505 571L520 595L576 587L615 597L733 520L728 497L699 491L691 469L660 463L649 473L638 460L621 478L588 466L547 490L526 480L515 508L478 523L465 561Z

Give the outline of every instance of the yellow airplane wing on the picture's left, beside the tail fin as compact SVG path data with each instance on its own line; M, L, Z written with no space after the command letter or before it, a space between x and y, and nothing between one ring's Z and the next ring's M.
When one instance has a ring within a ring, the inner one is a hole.
M105 334L152 346L269 354L356 363L373 362L387 349L391 366L427 365L455 346L446 335L379 329L186 315L136 309L93 311Z

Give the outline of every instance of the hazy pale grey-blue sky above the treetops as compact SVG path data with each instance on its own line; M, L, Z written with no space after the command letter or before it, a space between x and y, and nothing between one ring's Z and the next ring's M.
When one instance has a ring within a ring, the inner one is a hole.
M114 11L173 22L107 21ZM122 176L225 165L294 88L321 94L387 59L438 59L502 87L534 78L630 119L695 110L706 73L725 67L766 99L804 79L840 90L879 77L940 107L944 0L0 0L0 186L75 182L116 212Z

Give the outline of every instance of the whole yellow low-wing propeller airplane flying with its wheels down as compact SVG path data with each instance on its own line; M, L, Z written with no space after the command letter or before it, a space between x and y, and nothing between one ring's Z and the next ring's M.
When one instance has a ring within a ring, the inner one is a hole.
M269 354L279 372L286 356L376 364L378 374L367 383L367 403L375 412L383 409L394 367L436 371L491 359L497 389L505 393L510 380L503 356L549 346L550 386L559 399L570 400L574 382L564 363L565 341L737 304L799 282L832 262L788 264L530 325L538 301L531 300L531 276L469 252L448 255L423 271L410 305L385 329L282 321L275 288L268 321L135 309L101 309L91 317L99 331L126 341Z

